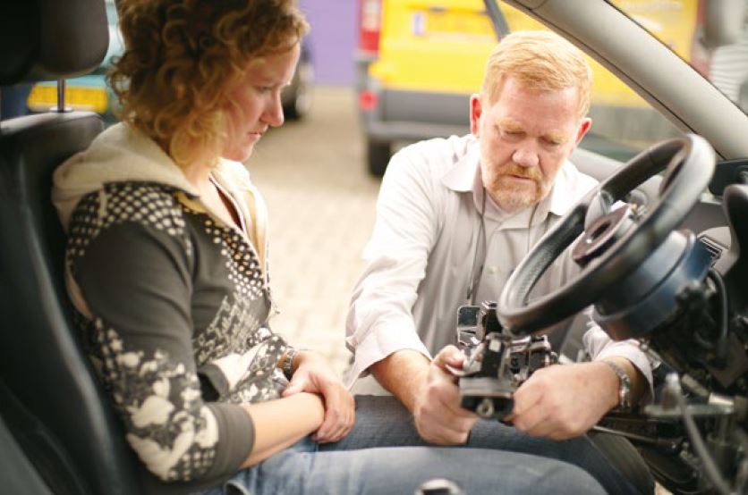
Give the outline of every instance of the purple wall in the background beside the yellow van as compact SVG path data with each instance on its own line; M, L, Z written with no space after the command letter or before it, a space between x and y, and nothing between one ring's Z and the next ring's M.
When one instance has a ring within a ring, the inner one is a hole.
M308 42L315 77L322 84L353 84L358 0L302 0L311 26Z

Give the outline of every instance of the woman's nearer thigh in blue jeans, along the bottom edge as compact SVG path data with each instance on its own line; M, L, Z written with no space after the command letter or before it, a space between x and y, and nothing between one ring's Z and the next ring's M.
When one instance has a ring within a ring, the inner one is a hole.
M433 478L456 482L465 495L605 493L580 468L544 457L440 447L320 451L309 438L206 493L411 495L421 483Z

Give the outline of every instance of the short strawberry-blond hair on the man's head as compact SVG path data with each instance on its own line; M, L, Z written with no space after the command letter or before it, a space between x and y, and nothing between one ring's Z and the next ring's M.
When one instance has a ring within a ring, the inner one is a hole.
M507 77L535 91L577 88L579 118L590 111L592 70L582 51L551 31L517 31L489 56L480 97L496 102Z

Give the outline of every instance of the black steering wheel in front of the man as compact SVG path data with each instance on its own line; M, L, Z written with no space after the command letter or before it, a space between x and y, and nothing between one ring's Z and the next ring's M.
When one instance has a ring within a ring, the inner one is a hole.
M592 189L540 239L506 281L497 307L504 327L514 335L527 335L593 304L683 222L709 185L715 160L709 143L689 134L642 151ZM615 205L666 169L658 197L646 208ZM578 240L571 255L581 272L550 294L529 301L536 282L574 239Z

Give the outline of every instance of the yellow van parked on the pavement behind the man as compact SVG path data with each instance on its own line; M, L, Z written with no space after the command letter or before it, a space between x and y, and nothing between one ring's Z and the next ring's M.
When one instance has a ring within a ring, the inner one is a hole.
M701 66L706 67L705 52L695 42L699 0L611 3L621 4L697 67L703 58ZM468 98L480 88L498 37L514 30L545 29L493 0L360 0L359 19L358 105L374 175L384 173L396 142L466 133ZM597 132L591 141L606 141L608 155L626 158L640 148L637 143L675 135L641 97L598 63L591 64L591 116ZM621 142L611 147L611 138Z

